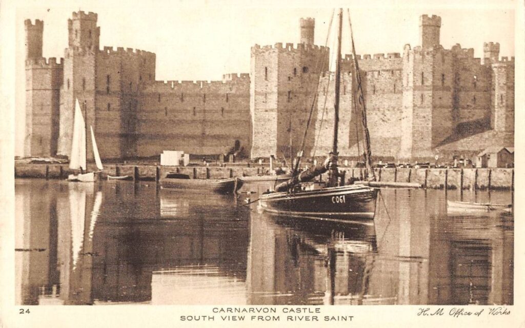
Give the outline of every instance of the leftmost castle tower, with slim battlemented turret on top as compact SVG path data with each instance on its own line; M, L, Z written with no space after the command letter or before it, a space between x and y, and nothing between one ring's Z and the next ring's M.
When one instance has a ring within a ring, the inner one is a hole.
M42 57L44 22L25 20L26 128L24 156L57 153L62 59Z

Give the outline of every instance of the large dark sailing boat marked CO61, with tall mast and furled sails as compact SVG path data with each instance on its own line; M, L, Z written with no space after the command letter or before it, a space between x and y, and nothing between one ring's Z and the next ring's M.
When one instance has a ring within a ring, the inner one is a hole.
M350 18L350 17L349 17ZM337 146L339 125L339 90L341 84L341 31L343 9L339 10L339 33L337 47L337 61L335 65L335 99L334 99L334 129L333 147L327 160L318 166L311 167L300 174L297 171L301 153L298 156L293 177L276 187L275 192L268 192L260 196L259 204L262 210L270 213L285 214L306 218L322 218L328 220L355 220L356 218L370 219L374 217L377 189L364 184L344 185L344 178L338 171ZM350 31L351 31L350 25ZM366 125L366 108L361 87L361 76L358 61L355 56L355 47L352 36L352 54L354 58L354 76L358 91L359 107L361 110L364 131L366 179L375 181L372 169L372 155L370 149L370 134ZM320 188L310 189L307 182L316 176L329 172L328 183Z

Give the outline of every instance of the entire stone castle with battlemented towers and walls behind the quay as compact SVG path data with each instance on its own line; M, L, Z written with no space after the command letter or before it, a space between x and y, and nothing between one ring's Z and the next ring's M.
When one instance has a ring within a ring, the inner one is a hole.
M374 156L424 160L513 146L514 58L500 58L492 42L483 58L460 45L445 49L441 18L419 22L420 45L358 55ZM41 20L26 20L25 29L25 156L69 155L75 99L103 158L224 154L236 143L252 158L289 157L310 111L305 154L331 148L334 74L329 49L313 44L312 18L300 20L299 44L255 45L250 73L220 81L156 81L152 52L100 49L94 13L72 14L60 60L42 57ZM352 62L346 55L341 63L339 152L348 157L363 151Z

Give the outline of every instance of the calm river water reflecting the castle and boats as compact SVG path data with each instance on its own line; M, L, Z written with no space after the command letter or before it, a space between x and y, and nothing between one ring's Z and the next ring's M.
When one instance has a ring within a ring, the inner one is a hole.
M17 304L513 303L513 217L446 205L511 192L390 189L361 225L154 182L17 179L15 194Z

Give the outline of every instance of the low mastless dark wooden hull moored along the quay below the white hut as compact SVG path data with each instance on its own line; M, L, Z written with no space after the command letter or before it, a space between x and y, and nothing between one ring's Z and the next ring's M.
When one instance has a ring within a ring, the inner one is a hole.
M207 191L220 194L233 193L235 178L230 179L176 179L162 178L159 181L162 188L187 189L193 191Z

